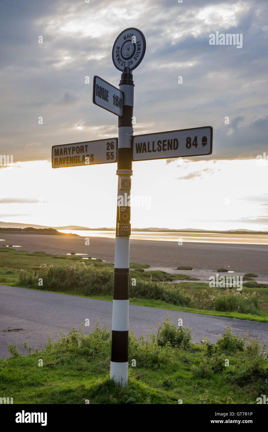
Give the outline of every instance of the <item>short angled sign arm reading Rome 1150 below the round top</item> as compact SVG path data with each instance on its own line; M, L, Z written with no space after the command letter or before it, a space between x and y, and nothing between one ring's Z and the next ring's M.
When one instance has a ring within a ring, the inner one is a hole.
M95 75L93 79L93 103L120 116L123 114L124 93Z

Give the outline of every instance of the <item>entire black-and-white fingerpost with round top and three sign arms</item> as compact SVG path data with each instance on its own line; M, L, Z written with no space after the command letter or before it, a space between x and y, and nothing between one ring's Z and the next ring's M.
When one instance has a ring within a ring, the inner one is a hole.
M205 156L212 153L211 126L133 135L134 81L132 70L141 63L145 49L145 37L140 30L135 28L124 30L117 37L112 50L114 66L122 72L120 89L99 76L94 76L93 103L118 116L118 138L52 147L53 168L117 162L118 187L110 378L122 386L125 386L128 381L131 224L130 206L122 206L119 197L130 195L132 161Z

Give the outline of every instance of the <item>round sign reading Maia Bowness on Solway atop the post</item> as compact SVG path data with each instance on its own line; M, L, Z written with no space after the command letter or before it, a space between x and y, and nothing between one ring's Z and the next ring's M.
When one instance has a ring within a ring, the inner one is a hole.
M124 30L114 42L112 51L114 66L122 71L125 66L129 66L130 70L135 69L142 61L145 49L145 37L140 30L134 27Z

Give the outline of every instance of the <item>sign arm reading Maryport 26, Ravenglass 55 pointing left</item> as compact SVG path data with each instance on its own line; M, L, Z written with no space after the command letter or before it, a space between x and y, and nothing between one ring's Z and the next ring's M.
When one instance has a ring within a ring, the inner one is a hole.
M52 168L97 165L117 161L117 138L52 147Z

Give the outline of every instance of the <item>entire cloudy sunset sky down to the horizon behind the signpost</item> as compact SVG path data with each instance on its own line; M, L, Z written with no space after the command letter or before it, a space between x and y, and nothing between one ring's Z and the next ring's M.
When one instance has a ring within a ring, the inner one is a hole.
M93 76L118 87L112 47L136 27L134 134L212 126L213 151L133 162L132 227L268 230L267 15L262 0L2 0L0 221L115 226L117 164L53 169L51 147L117 137Z

